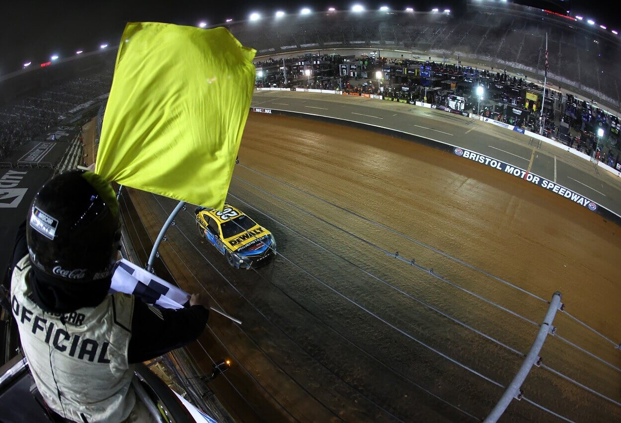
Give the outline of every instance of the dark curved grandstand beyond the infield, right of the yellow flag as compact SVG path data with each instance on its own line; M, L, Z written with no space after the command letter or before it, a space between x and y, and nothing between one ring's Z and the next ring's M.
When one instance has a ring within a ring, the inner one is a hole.
M329 48L379 48L460 56L543 79L548 33L548 79L587 99L619 109L620 43L612 33L541 9L470 3L463 16L427 12L316 12L259 22L230 22L235 37L258 56ZM569 87L568 87L569 86Z

